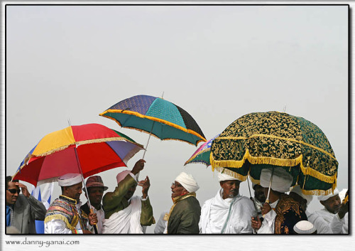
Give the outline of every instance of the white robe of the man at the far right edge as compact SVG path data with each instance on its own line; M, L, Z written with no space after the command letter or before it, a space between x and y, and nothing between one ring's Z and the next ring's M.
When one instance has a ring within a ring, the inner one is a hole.
M312 213L308 217L318 234L332 234L332 233L349 233L348 213L344 218L340 219L338 214L330 213L327 209L322 208Z

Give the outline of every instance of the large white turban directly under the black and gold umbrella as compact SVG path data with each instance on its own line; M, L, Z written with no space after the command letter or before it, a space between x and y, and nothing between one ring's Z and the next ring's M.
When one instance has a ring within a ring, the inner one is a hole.
M263 169L260 174L260 185L263 188L270 186L272 169ZM273 182L271 183L271 189L280 193L286 193L290 191L293 177L287 171L282 168L274 167Z

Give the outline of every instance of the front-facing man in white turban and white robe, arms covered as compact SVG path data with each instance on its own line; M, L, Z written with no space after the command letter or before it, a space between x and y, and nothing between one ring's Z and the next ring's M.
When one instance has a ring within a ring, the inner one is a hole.
M253 233L250 219L256 210L250 198L239 195L241 180L224 173L218 180L221 189L202 206L200 233Z

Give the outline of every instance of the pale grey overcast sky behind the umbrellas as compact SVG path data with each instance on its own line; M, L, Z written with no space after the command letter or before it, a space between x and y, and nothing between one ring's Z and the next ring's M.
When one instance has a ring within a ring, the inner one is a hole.
M67 119L146 145L148 134L98 114L127 97L164 92L207 139L244 114L286 105L327 135L338 187L349 186L347 6L8 6L6 17L7 175ZM183 167L195 150L151 138L140 178L151 179L156 220L170 209L170 184L181 171L195 176L201 205L217 193L210 167ZM109 191L121 170L99 174ZM241 194L249 196L246 182ZM316 199L311 208L320 208Z

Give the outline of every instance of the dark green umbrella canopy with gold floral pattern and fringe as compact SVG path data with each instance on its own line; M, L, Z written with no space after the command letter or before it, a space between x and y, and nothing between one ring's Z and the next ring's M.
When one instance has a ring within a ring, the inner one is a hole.
M281 112L246 114L212 142L212 170L259 183L261 169L281 166L305 194L324 195L337 186L338 161L322 130Z

